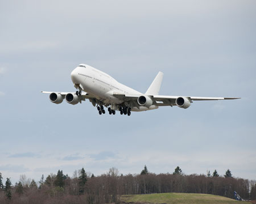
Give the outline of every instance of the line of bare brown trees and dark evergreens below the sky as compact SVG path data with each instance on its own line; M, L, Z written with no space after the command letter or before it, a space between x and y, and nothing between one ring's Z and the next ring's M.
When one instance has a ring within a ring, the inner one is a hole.
M184 175L179 167L173 173L150 173L145 165L140 174L120 175L110 168L101 176L90 175L82 168L69 177L63 171L44 176L38 183L20 176L15 185L7 178L3 184L0 173L0 203L113 203L121 195L150 193L204 193L234 198L236 191L243 199L256 199L255 181L234 178L226 171L222 177L217 171L210 175Z

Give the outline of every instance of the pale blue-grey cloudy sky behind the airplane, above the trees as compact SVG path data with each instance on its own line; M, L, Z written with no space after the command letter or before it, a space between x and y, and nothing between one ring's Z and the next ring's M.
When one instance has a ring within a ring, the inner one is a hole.
M0 172L40 180L63 170L101 175L224 175L256 179L256 2L0 1ZM100 116L89 103L53 104L40 91L76 91L86 63L146 92L242 97Z

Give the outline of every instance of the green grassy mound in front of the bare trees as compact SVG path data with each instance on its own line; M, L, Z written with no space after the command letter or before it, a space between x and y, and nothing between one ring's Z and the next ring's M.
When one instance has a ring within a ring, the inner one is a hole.
M251 204L245 201L235 201L234 199L213 196L209 194L196 193L157 193L157 194L143 194L143 195L129 195L122 196L122 202L139 202L139 203L170 203L170 204Z

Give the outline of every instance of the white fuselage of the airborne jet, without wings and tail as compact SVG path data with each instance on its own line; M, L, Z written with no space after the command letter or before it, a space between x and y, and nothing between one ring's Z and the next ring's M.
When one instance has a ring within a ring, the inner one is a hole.
M112 76L92 66L80 64L71 73L72 82L82 91L93 95L100 101L108 104L122 104L124 101L117 99L113 94L141 94L141 92L127 87L115 80ZM146 111L158 108L155 105L146 107L133 107L132 111Z

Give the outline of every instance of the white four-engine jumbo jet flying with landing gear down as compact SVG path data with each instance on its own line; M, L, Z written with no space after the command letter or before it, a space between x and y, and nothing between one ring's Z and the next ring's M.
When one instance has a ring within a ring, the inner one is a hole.
M133 90L112 78L110 75L95 69L92 66L80 64L71 73L71 79L76 92L48 92L52 103L60 104L65 99L67 103L75 105L89 99L98 113L105 114L104 106L109 114L120 111L130 116L131 111L148 111L162 106L188 108L196 100L230 100L237 97L193 97L193 96L162 96L158 95L163 79L159 71L145 94ZM82 92L84 91L84 92Z

